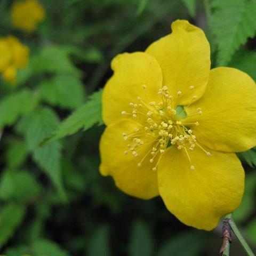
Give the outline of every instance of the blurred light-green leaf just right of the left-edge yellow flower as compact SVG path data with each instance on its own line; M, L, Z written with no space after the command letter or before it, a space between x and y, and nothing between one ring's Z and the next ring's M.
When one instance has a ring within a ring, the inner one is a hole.
M79 71L71 62L69 55L61 46L47 46L30 60L35 73L63 73L80 76Z

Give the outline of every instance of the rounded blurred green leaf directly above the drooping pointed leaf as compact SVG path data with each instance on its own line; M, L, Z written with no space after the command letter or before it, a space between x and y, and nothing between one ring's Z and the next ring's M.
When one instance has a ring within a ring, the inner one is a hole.
M40 85L41 98L53 106L75 109L84 102L84 88L80 79L70 75L56 75Z

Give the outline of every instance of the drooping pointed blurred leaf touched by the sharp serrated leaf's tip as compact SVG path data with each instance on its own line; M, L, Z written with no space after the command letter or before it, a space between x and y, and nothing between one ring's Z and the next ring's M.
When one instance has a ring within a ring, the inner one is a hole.
M26 117L23 123L23 132L28 149L33 153L34 161L49 176L61 197L65 200L61 178L61 145L59 141L53 141L47 145L39 146L39 143L51 131L58 127L58 116L49 108L41 108Z

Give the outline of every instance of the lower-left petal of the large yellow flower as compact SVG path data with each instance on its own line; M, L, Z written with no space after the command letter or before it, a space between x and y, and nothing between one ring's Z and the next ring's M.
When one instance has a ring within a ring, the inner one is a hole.
M149 199L158 195L157 173L151 170L149 161L142 162L140 167L137 164L150 148L145 147L134 157L127 147L130 141L125 141L122 135L123 132L133 132L135 128L140 128L140 125L127 119L106 128L100 140L100 172L113 176L116 186L126 194ZM129 150L127 155L126 150Z

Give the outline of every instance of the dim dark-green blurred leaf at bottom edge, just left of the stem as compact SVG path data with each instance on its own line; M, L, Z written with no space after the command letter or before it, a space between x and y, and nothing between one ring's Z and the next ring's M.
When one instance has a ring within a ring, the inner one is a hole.
M170 238L159 249L157 256L197 256L200 255L205 246L205 232L188 231Z

